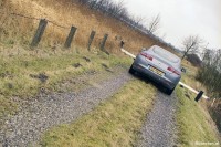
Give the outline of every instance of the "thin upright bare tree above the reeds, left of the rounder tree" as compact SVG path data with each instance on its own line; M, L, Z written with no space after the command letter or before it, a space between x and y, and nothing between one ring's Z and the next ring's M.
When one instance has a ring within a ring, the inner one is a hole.
M155 33L159 29L159 27L160 27L160 14L157 14L150 20L147 29L150 33Z

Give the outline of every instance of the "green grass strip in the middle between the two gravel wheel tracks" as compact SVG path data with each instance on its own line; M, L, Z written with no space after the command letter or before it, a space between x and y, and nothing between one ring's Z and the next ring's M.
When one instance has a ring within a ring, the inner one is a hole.
M41 145L49 147L126 147L136 144L137 133L152 106L156 90L139 80L122 87L113 97L72 124L51 128Z

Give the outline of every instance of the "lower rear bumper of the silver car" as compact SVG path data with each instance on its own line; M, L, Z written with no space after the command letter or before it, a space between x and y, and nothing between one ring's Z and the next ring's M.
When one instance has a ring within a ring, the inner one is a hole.
M139 64L139 63L134 63L133 69L143 74L144 76L149 77L152 82L160 84L161 86L165 86L169 90L172 90L176 87L178 83L173 83L170 80L166 78L165 76L160 76L158 74L152 73L149 71L148 66Z

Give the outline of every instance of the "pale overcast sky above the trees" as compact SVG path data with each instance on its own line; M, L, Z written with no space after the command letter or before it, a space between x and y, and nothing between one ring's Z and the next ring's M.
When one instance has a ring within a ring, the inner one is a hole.
M221 0L124 0L124 3L131 14L146 20L159 13L157 35L177 48L183 38L199 35L209 43L208 48L221 49Z

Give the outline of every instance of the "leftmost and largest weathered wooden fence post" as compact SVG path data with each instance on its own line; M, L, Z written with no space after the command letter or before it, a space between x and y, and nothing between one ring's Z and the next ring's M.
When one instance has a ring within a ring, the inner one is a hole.
M41 38L44 33L44 30L46 28L48 21L45 19L41 19L40 23L39 23L39 28L35 32L35 35L31 42L31 46L36 46L39 44L39 42L41 41Z

